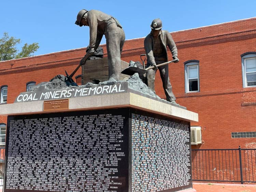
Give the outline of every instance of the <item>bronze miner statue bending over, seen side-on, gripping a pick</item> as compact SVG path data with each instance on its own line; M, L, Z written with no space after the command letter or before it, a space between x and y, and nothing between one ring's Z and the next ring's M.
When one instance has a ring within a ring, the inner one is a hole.
M84 64L88 55L93 55L99 47L103 34L106 37L108 51L109 79L119 80L121 72L121 53L125 42L125 32L118 20L101 11L85 9L79 11L75 21L76 25L89 26L89 49L81 63Z

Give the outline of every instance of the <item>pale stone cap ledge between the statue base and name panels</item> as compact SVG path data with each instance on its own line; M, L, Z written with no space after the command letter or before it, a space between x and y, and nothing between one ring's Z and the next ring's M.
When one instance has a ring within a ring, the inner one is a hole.
M44 101L33 101L0 105L0 115L42 114L75 110L131 107L181 120L198 122L197 113L131 92L70 98L69 109L44 111L43 104Z

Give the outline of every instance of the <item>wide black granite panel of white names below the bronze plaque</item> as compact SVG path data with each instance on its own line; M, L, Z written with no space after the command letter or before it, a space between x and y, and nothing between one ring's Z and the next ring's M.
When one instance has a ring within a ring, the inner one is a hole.
M129 110L9 116L5 192L123 192Z

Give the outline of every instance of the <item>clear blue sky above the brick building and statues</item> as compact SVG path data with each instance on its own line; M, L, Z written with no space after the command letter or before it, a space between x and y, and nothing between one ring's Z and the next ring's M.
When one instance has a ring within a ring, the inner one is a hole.
M74 24L81 9L96 9L116 17L126 39L146 36L154 18L160 18L163 29L172 32L256 16L255 0L1 0L0 4L0 37L8 32L20 38L18 48L38 42L40 48L34 55L86 47L89 27Z

